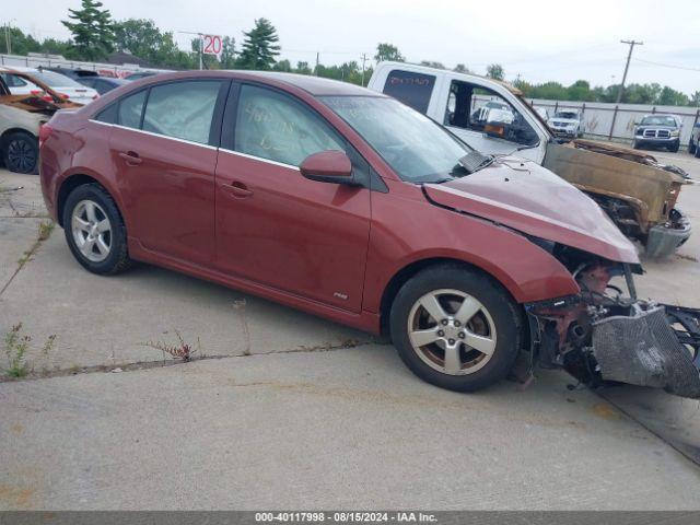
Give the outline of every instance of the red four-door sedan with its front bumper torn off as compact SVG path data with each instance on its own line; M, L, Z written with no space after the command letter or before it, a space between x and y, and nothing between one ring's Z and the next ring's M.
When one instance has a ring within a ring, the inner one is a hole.
M40 142L46 205L88 270L147 261L385 332L445 388L532 364L535 317L560 319L556 360L590 328L582 288L639 268L605 213L547 170L481 155L346 83L151 77L60 112Z

